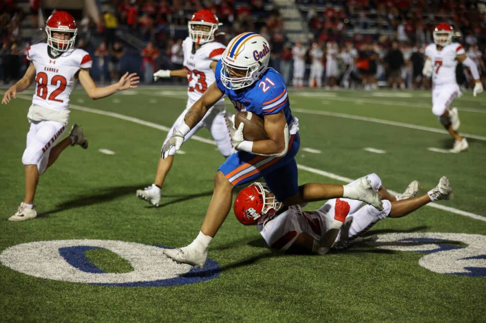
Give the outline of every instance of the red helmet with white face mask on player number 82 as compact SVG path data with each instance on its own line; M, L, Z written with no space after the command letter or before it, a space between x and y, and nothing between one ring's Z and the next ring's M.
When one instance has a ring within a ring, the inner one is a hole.
M70 33L69 40L53 37L53 32ZM47 45L57 51L66 51L74 46L78 29L74 17L66 11L54 12L46 22Z

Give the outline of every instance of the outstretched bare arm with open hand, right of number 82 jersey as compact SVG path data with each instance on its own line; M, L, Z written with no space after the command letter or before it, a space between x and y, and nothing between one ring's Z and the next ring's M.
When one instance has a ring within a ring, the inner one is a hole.
M135 89L137 88L137 84L140 83L140 78L137 76L137 73L128 74L128 72L126 72L117 83L100 88L96 86L89 75L89 69L87 68L79 70L78 78L86 93L88 93L89 97L93 100L109 96L119 91Z

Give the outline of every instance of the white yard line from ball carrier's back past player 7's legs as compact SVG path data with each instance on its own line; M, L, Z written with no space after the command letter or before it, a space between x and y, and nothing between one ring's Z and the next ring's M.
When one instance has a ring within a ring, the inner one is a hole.
M346 113L338 113L338 112L330 112L330 111L322 111L322 110L309 110L309 109L301 109L301 108L292 108L292 111L300 112L300 113L306 113L306 114L323 115L323 116L329 116L329 117L368 121L368 122L380 123L380 124L389 125L389 126L410 128L410 129L415 129L415 130L423 130L423 131L428 131L428 132L437 133L437 134L449 134L447 131L442 130L442 129L412 125L410 123L403 123L403 122L389 121L389 120L383 120L383 119L355 116L355 115L346 114ZM478 140L486 141L486 137L484 137L484 136L462 134L462 133L461 133L461 135L464 136L464 137L468 137L468 138L475 138L475 139L478 139Z

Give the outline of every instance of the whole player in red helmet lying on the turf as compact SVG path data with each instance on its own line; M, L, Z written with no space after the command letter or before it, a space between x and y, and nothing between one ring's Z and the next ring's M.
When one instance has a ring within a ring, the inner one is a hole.
M367 176L381 196L383 210L351 199L332 199L319 209L307 212L300 205L284 206L262 183L254 183L238 194L234 211L244 225L256 225L272 249L304 249L325 254L331 248L345 248L360 238L378 221L404 217L431 201L448 200L452 188L446 177L433 189L418 197L419 182L410 183L403 194L393 196L381 185L376 174ZM349 212L349 214L348 214Z

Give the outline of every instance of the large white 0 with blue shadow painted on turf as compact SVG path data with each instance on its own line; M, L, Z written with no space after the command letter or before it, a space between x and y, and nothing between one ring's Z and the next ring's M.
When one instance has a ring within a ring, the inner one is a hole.
M85 252L107 249L128 261L128 273L107 273L99 269ZM206 266L194 269L178 265L162 253L161 246L116 240L52 240L15 245L0 254L0 262L21 273L78 283L112 286L173 286L218 277L217 262L207 259Z

